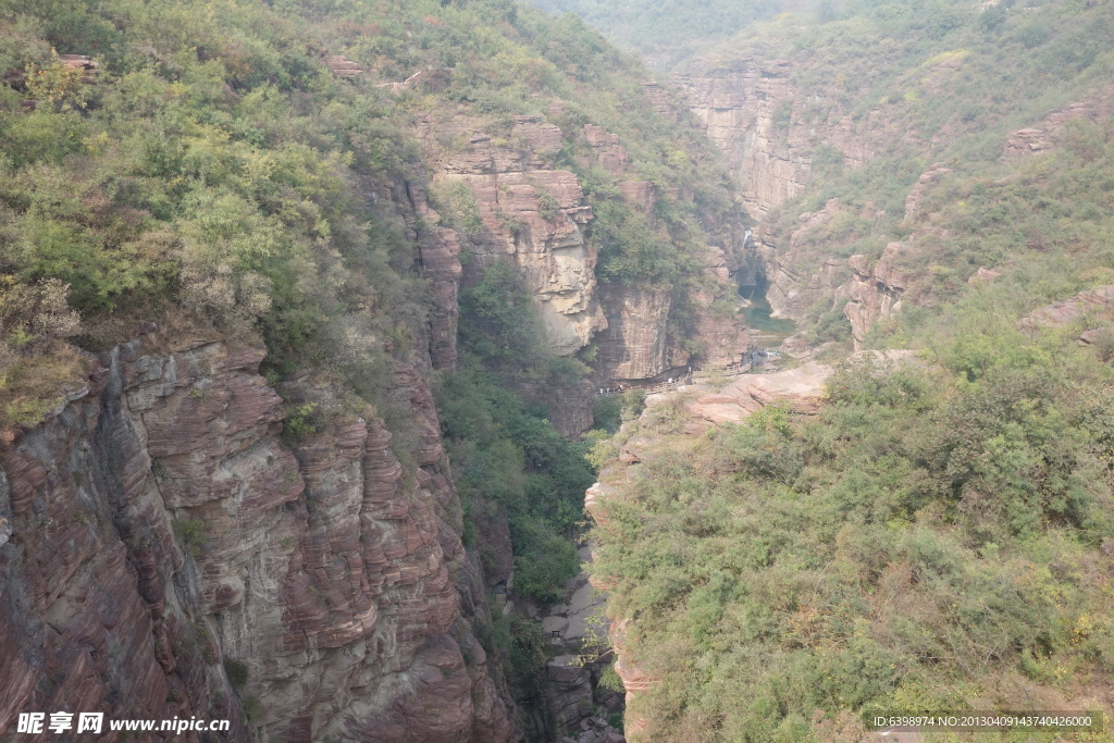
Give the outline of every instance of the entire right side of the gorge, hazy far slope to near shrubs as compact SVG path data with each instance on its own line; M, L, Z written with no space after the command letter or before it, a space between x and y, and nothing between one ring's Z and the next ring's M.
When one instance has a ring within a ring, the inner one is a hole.
M759 221L771 304L836 372L817 409L710 427L697 392L597 449L628 730L1111 718L1112 21L848 2L680 68Z

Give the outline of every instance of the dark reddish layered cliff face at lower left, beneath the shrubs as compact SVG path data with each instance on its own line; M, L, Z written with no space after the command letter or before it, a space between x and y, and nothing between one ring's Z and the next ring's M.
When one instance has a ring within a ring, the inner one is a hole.
M262 358L125 343L6 452L0 727L96 710L232 717L232 740L514 740L421 375L397 372L404 471L370 410L287 443Z

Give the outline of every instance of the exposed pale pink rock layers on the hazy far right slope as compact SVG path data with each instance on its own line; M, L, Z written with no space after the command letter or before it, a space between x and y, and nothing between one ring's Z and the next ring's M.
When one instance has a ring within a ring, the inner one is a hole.
M931 63L907 75L909 89L927 96L939 95L962 68L965 59L966 53L959 51L937 56ZM895 282L890 282L874 275L872 268L822 257L822 250L815 243L807 245L809 234L822 231L838 214L838 203L802 214L800 224L788 235L774 235L763 218L770 209L803 193L813 177L813 158L821 147L825 158L830 159L834 153L844 167L856 167L870 160L876 151L885 150L887 143L899 140L921 149L928 157L931 148L945 146L956 133L944 127L927 141L906 127L900 116L891 115L885 104L852 117L829 94L802 92L794 81L793 63L782 59L696 59L686 71L675 76L675 81L709 137L726 156L744 208L760 223L753 247L760 258L759 273L769 286L768 299L774 316L800 320L817 303L830 303L831 310L844 310L860 348L871 323L900 309L902 293L916 294L908 291L908 281L891 276ZM1010 134L1003 157L1039 154L1056 147L1067 136L1072 121L1108 117L1114 110L1112 101L1114 88L1107 86L1051 110L1042 120ZM937 164L921 175L907 195L908 224L931 221L932 215L924 214L924 196L934 182L948 173L948 167ZM818 253L821 257L817 257ZM885 256L880 264L887 273Z

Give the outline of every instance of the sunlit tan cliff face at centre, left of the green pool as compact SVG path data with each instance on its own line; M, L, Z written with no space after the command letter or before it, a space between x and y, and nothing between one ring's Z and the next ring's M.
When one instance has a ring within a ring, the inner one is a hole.
M726 248L704 246L698 286L681 290L693 305L691 326L681 327L671 323L676 287L598 283L597 247L586 236L592 207L585 204L576 174L554 166L564 141L558 127L544 117L518 116L510 133L500 137L462 120L437 124L426 119L419 131L436 163L433 188L443 201L458 201L455 207L447 203L442 211L463 212L465 221L471 217L463 231L438 227L424 239L422 261L428 272L432 270L437 297L434 343L456 322L450 306L456 289L450 284L458 277L466 285L475 284L494 262L508 261L534 297L550 349L568 355L596 343L599 379L647 379L684 365L693 354L686 340L697 341L703 360L711 363L737 359L746 348L743 323L734 313L732 280L743 258L734 247L739 236L730 226L722 237ZM594 125L585 125L578 136L590 160L616 178L622 198L656 226L658 188L649 180L624 179L629 177L631 157L619 137ZM462 196L453 192L455 184L467 185L467 192ZM411 187L411 197L419 214L434 224L441 218L420 189L416 193ZM456 273L458 245L465 266ZM448 351L434 354L434 363L448 364L450 358L455 355ZM589 393L590 385L583 385L528 397L549 407L558 430L578 433L592 422Z

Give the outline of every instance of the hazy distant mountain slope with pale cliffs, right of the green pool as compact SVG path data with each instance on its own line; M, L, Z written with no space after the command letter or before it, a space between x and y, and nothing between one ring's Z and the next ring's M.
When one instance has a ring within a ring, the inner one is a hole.
M830 340L856 272L869 274L889 243L900 247L887 265L916 286L887 291L932 304L962 293L979 265L1056 232L1049 216L1074 223L1071 205L1043 214L1043 198L1010 219L971 205L967 234L949 238L940 231L958 225L934 221L938 202L920 198L1005 177L1026 154L1069 144L1093 124L1101 131L1112 100L1110 13L1066 2L850 6L829 23L786 16L755 25L693 60L677 81L762 224L775 310L820 322ZM1087 224L1102 214L1077 216ZM863 256L858 266L851 255ZM860 345L878 316L852 316Z

